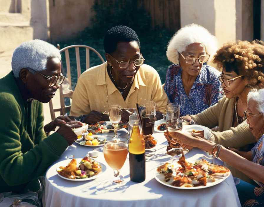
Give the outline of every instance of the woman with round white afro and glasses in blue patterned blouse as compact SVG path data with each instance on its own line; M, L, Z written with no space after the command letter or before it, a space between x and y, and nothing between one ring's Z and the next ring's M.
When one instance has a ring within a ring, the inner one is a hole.
M180 105L180 116L197 114L222 98L220 72L203 65L217 50L217 40L207 29L189 24L169 42L169 66L164 90L171 103Z

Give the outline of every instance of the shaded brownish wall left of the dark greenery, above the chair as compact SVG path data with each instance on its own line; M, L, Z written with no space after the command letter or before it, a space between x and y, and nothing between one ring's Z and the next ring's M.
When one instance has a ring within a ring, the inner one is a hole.
M52 42L76 36L91 26L93 0L49 0L50 39Z

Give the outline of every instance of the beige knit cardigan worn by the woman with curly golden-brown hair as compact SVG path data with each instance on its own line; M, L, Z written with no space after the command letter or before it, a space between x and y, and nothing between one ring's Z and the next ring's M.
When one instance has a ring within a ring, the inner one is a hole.
M225 147L239 148L258 141L251 133L246 120L237 127L232 127L235 99L227 99L224 96L217 104L211 106L201 113L192 115L196 124L214 128L219 126L219 131L213 131L211 140Z

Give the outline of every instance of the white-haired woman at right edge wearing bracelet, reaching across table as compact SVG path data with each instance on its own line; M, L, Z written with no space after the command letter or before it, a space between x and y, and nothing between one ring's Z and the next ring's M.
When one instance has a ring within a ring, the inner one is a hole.
M248 93L248 106L244 111L250 131L258 138L256 145L249 151L225 147L203 139L199 135L169 131L166 138L171 142L199 147L212 152L215 158L245 173L248 182L235 178L237 193L241 206L263 206L264 203L264 89ZM232 173L233 175L233 173Z

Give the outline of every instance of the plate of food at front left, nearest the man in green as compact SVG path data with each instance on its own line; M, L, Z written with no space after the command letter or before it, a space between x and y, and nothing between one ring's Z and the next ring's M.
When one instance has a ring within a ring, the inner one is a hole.
M103 163L97 162L92 158L63 160L57 163L59 166L56 171L58 176L69 181L89 181L98 178L106 171Z

